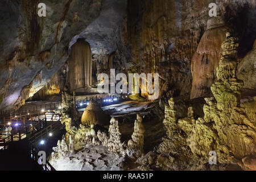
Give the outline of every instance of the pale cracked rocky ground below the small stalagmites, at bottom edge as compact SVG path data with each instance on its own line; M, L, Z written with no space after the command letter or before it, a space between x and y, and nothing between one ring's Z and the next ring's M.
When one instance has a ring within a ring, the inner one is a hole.
M135 160L112 154L108 148L100 145L86 146L76 152L58 160L49 160L57 171L122 171L138 170Z

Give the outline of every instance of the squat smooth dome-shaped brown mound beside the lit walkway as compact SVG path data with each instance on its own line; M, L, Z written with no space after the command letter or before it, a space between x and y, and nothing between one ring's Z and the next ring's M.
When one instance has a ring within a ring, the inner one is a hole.
M82 113L81 123L82 125L109 125L110 117L105 114L101 109L101 106L97 102L90 101L89 105Z

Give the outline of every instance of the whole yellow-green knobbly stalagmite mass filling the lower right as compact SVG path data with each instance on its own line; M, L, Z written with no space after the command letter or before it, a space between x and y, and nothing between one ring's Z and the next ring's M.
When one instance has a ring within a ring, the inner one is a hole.
M205 98L204 118L195 121L193 109L188 107L188 117L177 120L174 100L169 100L163 121L167 133L156 160L159 168L205 169L210 151L217 152L219 169L229 163L255 168L255 97L241 103L242 82L236 78L237 39L227 33L221 47L218 80L211 87L214 98Z

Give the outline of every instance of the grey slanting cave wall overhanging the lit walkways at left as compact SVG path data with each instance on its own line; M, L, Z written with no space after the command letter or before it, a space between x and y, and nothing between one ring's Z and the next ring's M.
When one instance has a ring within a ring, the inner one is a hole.
M45 0L46 17L39 17L38 3L0 2L0 110L19 107L42 89L67 61L77 35L101 38L90 39L94 50L96 43L104 52L113 49L110 38L126 7L126 1L117 0Z

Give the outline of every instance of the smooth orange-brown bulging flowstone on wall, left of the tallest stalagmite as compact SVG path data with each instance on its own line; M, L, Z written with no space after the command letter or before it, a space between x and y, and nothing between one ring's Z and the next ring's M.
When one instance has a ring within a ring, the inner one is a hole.
M192 88L190 98L204 96L216 78L216 68L221 57L221 44L225 40L224 21L220 16L210 18L191 61Z

